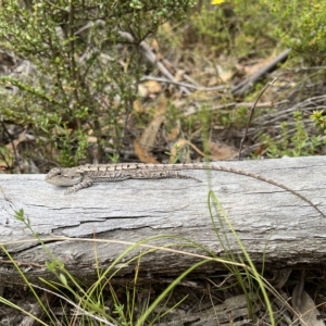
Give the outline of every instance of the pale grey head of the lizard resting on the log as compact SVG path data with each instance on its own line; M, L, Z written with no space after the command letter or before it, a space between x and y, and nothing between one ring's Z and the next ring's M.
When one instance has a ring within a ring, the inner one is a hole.
M52 168L46 176L46 181L55 186L73 186L79 184L83 174L72 168Z

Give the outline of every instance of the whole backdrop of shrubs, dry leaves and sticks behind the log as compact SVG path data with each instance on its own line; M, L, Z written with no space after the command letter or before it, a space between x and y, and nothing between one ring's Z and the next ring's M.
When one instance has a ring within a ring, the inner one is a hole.
M324 154L324 1L1 4L2 170Z

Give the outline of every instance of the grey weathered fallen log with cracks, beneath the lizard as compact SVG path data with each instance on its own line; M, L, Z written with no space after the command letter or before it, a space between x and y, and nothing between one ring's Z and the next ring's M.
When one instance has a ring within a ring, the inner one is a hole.
M326 214L326 158L297 158L265 161L218 162L277 180L309 198ZM0 175L0 242L32 280L49 277L45 262L49 254L35 240L14 212L23 209L32 228L66 268L84 280L96 276L96 251L102 268L109 266L127 244L158 235L189 238L216 255L225 255L212 226L208 193L213 190L256 264L279 268L326 266L326 218L292 193L258 179L216 171L186 171L200 178L150 179L95 184L64 196L64 188L43 181L45 175ZM213 210L214 211L214 210ZM214 211L215 212L215 211ZM239 253L230 230L214 216L222 239L228 238L229 251ZM70 237L58 239L55 237ZM74 239L74 238L79 238ZM80 238L88 238L84 241ZM91 239L111 240L98 242ZM166 246L188 252L204 251L183 246L186 240L164 237L148 244ZM175 243L175 246L171 246ZM226 241L224 242L226 244ZM118 267L120 277L130 277L137 260L123 265L146 248L129 252ZM141 256L140 276L179 274L198 258L168 251ZM211 273L223 266L210 263L197 272ZM112 271L115 271L113 268ZM9 259L0 249L0 284L17 281Z

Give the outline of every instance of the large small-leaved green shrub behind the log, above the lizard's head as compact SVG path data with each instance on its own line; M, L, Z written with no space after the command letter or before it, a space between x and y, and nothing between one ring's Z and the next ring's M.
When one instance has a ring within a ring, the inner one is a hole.
M2 118L29 126L43 158L62 165L104 148L118 151L143 73L139 43L165 21L183 18L193 0L0 1L0 47L21 59L2 76ZM57 151L55 151L57 152ZM39 154L38 154L39 155ZM53 160L53 159L52 159Z

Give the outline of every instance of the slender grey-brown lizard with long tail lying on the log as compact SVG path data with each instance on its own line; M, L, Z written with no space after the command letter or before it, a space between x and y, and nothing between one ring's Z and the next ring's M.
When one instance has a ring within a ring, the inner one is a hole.
M325 214L306 197L298 191L264 177L259 174L222 165L209 165L208 163L180 163L180 164L147 164L147 163L117 163L117 164L86 164L76 167L54 167L46 176L46 181L55 185L68 187L64 193L78 191L90 187L93 183L112 183L126 179L159 179L159 178L190 178L201 181L198 178L183 174L185 170L209 170L235 173L279 187L292 195L299 197L311 206L313 206L325 218Z

